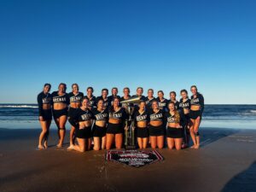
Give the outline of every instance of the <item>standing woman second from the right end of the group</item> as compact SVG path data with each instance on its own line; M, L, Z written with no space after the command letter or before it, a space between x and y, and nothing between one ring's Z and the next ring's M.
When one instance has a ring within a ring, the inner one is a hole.
M190 99L187 90L181 90L182 98L179 101L179 108L181 112L181 125L183 126L183 148L189 146L189 109Z

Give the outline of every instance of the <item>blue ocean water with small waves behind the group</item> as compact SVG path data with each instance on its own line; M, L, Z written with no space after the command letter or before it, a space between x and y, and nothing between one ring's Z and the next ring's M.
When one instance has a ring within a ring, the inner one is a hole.
M37 104L0 104L0 128L39 127ZM201 127L256 129L256 105L206 105Z

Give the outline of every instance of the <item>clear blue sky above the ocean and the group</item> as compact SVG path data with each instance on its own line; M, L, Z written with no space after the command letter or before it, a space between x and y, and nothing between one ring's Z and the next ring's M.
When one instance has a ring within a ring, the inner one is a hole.
M164 90L256 104L256 1L0 2L0 102L43 84ZM122 95L120 93L120 95Z

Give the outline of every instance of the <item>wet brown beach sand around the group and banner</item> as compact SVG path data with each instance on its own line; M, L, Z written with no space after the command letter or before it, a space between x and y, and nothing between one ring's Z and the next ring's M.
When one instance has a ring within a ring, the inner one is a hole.
M158 150L165 160L143 167L84 154L36 150L40 130L0 129L0 191L256 191L256 131L201 129L199 150ZM66 136L67 139L67 136Z

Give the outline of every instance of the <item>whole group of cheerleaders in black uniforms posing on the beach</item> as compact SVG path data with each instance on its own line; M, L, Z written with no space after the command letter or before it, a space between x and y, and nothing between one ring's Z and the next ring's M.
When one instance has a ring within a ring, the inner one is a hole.
M200 147L199 126L204 110L204 97L191 86L192 96L189 99L188 91L181 90L181 99L178 102L176 92L170 92L170 100L164 97L159 90L154 97L154 90L148 89L148 96L143 96L143 88L137 88L135 96L140 102L120 103L130 96L130 89L125 87L124 96L118 96L118 89L112 89L108 96L108 89L102 89L102 96L93 96L93 88L88 87L86 96L79 91L78 84L72 84L72 92L67 93L67 85L59 84L58 90L49 93L50 84L44 84L44 90L38 94L39 122L42 131L39 136L38 148L48 148L49 126L52 117L58 128L59 141L57 148L63 146L66 134L67 120L71 125L70 145L68 150L84 152L94 150L123 148L124 133L128 129L126 113L128 105L134 105L132 113L133 127L139 148L167 147L177 150L189 147L189 138L192 139L190 148ZM93 140L92 140L93 139Z

